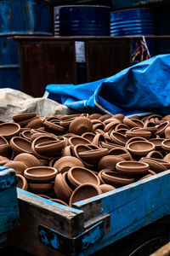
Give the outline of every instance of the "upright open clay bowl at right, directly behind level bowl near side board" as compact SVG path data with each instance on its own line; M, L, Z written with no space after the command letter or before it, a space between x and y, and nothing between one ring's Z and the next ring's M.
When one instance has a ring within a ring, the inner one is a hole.
M137 157L144 156L155 148L156 146L148 141L136 141L127 145L127 150Z

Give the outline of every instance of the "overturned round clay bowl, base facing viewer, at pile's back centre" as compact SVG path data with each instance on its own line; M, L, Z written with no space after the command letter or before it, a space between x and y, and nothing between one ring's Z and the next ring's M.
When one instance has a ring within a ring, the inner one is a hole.
M86 117L77 117L71 121L69 131L77 135L82 135L85 132L93 131L91 119Z

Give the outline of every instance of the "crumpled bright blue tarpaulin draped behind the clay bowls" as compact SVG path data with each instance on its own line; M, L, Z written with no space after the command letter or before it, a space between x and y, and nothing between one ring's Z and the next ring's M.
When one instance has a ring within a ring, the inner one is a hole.
M81 112L170 113L170 55L156 55L110 78L49 84L50 99Z

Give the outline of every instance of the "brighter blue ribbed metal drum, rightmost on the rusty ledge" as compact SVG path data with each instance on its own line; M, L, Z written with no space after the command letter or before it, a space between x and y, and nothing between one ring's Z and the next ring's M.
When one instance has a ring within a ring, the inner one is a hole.
M111 13L111 36L154 35L151 9L127 9Z

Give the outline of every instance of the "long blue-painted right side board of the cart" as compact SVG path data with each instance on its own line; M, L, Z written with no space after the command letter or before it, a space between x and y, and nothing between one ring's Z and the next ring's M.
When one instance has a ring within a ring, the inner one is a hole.
M103 239L88 247L82 255L94 253L102 247L153 223L170 213L170 171L161 172L144 181L133 183L89 201L75 203L78 209L93 207L99 202L103 212L111 215L111 230ZM93 211L93 209L92 209Z

